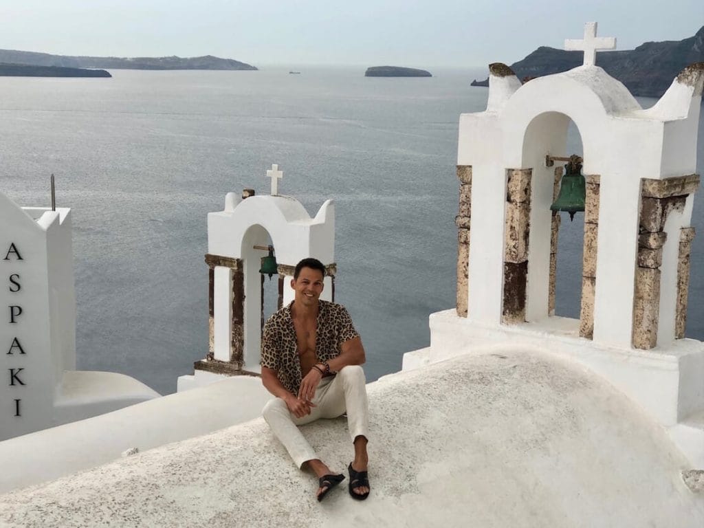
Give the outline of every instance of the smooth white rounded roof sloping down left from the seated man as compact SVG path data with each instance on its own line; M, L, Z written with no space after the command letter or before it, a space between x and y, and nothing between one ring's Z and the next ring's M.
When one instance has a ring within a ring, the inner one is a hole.
M251 420L269 398L258 377L229 377L0 442L0 493Z

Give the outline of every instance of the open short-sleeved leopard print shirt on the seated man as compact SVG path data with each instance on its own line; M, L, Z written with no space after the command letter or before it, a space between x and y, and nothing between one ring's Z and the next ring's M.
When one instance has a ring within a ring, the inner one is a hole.
M292 305L293 301L274 313L264 325L260 363L276 372L287 391L298 394L302 375L296 330L291 319ZM315 354L320 362L337 358L341 353L341 344L359 337L352 318L340 304L318 300L317 325Z

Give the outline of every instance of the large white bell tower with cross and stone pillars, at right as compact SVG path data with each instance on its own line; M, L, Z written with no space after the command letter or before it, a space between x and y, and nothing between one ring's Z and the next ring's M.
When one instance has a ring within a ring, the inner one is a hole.
M588 365L641 403L704 467L704 344L684 339L704 63L652 108L595 65L615 39L567 41L584 65L522 83L490 65L486 111L460 116L456 310L431 315L404 368L520 343ZM560 216L550 206L577 125L586 177L579 319L554 315ZM697 270L697 267L693 267Z

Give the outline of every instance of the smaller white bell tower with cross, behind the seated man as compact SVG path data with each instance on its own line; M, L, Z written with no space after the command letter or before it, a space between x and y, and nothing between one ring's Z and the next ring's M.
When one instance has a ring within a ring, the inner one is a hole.
M245 189L225 196L225 210L208 214L209 348L196 361L195 374L178 379L178 391L232 375L258 375L262 321L260 259L269 246L279 276L279 308L293 300L289 282L294 267L313 257L325 265L321 298L334 300L334 203L327 200L315 218L301 202L278 194L283 172L267 170L271 194L256 196Z

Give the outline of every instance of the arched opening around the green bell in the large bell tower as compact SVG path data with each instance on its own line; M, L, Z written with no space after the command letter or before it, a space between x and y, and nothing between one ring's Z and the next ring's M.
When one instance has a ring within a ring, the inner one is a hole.
M532 169L525 320L571 318L571 332L579 327L582 304L584 213L571 222L567 213L551 211L565 162L548 163L546 156L582 152L577 125L564 113L536 116L524 134L523 167Z

